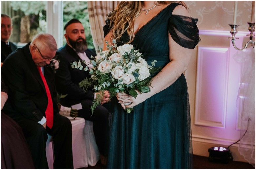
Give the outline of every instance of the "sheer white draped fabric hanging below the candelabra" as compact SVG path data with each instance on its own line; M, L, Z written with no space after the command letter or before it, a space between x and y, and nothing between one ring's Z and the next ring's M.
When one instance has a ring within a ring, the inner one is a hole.
M242 67L236 103L241 115L238 151L255 167L255 48L238 51L234 59Z

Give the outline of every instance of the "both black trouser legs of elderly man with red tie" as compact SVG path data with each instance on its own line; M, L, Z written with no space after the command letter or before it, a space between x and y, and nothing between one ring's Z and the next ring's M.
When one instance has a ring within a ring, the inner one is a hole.
M28 142L35 169L49 169L46 158L47 133L53 137L54 169L73 169L72 126L68 118L54 115L52 129L27 118L15 120Z

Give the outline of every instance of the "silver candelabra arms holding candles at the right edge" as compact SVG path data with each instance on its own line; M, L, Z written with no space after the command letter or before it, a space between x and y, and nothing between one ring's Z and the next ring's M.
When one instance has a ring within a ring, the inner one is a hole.
M243 49L247 48L247 46L249 44L251 44L251 46L253 48L255 47L255 40L252 40L252 38L255 37L255 34L253 34L254 31L255 31L255 23L247 22L247 24L249 25L248 30L250 32L250 34L248 34L247 36L250 36L250 40L248 42L246 42L244 48L237 48L237 46L235 44L236 39L238 39L238 38L235 38L235 35L238 32L237 27L239 25L229 24L229 26L231 27L230 34L231 34L232 37L228 37L228 38L231 38L232 44L233 44L234 48L237 49L237 50L243 50Z

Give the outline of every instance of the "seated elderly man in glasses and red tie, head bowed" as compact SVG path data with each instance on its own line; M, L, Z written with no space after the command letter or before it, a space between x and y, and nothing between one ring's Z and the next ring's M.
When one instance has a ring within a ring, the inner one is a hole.
M71 122L58 113L54 70L46 66L56 51L52 35L38 34L13 52L1 70L9 88L3 111L22 128L36 169L48 169L47 133L53 136L54 169L73 169Z

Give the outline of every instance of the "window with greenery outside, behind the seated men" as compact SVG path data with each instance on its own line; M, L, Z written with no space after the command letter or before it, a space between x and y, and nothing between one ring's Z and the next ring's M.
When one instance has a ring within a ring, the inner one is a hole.
M85 28L88 48L94 49L87 1L1 1L1 13L12 18L10 41L18 47L31 42L38 33L49 33L59 48L66 44L64 25L76 18Z

